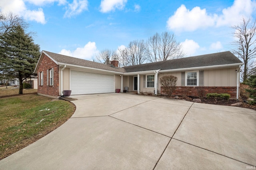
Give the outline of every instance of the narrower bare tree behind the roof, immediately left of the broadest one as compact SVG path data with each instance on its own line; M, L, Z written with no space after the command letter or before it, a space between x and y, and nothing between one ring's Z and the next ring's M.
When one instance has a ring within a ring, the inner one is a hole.
M146 44L144 40L134 40L128 45L128 55L131 65L143 64L146 61Z

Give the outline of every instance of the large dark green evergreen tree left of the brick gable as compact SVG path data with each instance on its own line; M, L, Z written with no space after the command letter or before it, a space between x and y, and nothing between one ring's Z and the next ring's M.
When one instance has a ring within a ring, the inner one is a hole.
M0 35L0 71L19 79L19 94L23 93L23 80L33 75L39 56L39 45L20 25Z

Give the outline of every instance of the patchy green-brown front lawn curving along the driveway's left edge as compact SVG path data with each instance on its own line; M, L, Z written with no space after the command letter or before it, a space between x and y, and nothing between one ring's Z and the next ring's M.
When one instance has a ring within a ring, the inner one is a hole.
M35 94L0 98L0 160L47 135L74 111L70 102Z

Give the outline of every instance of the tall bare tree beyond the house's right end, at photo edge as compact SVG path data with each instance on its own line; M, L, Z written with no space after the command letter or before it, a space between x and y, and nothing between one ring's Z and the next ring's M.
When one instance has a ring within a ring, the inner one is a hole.
M247 80L248 76L252 75L255 67L256 58L256 19L251 21L251 18L246 20L242 18L239 25L232 26L234 37L237 39L232 42L236 49L232 50L234 55L244 62L241 74L243 82Z

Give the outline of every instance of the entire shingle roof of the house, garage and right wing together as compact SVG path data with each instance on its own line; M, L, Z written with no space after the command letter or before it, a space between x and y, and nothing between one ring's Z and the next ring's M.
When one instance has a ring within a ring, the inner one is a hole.
M242 64L242 61L240 61L230 51L206 54L206 55L198 55L194 57L184 57L181 59L159 61L155 63L126 66L122 68L115 68L107 64L96 63L93 61L51 53L49 51L44 51L44 53L48 54L50 57L52 57L52 59L54 59L58 63L73 64L77 66L98 68L102 70L109 70L109 71L115 71L115 72L138 72L138 71L159 70L159 69L173 70L173 69L180 69L180 68L194 68L194 67L216 66L216 65L226 65L226 64Z

